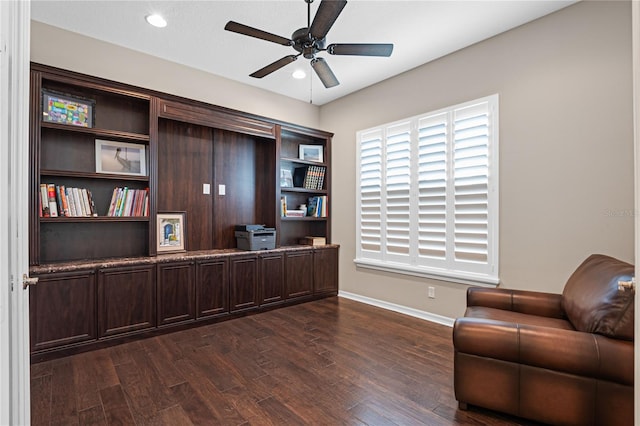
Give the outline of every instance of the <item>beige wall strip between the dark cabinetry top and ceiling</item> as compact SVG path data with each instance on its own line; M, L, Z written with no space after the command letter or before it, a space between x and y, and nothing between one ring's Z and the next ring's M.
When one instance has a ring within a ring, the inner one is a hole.
M31 21L31 61L320 128L319 109L273 92Z

